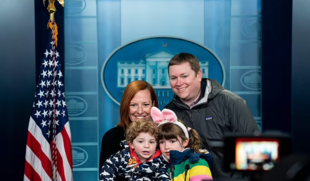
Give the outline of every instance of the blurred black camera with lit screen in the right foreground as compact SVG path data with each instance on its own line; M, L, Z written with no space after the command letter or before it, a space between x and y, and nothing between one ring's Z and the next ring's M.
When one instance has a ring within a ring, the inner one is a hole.
M292 153L290 136L282 133L224 136L224 169L244 174L271 170L275 163Z

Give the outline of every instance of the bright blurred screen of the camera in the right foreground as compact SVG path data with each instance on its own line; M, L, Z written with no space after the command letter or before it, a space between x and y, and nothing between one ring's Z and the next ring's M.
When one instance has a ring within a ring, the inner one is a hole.
M271 170L279 161L280 141L270 138L237 138L237 170Z

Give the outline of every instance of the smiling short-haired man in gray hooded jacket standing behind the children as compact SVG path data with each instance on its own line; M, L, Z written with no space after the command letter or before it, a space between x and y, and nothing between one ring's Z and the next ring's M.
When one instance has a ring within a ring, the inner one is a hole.
M168 64L173 100L165 106L200 134L214 158L215 179L243 178L242 174L223 170L222 148L225 132L252 134L259 129L244 99L226 90L216 80L202 78L198 59L189 53L175 55Z

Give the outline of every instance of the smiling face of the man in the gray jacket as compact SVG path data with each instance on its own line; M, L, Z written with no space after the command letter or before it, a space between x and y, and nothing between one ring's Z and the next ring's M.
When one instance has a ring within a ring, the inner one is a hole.
M170 86L172 91L188 104L192 103L201 91L202 72L197 76L189 62L169 67Z

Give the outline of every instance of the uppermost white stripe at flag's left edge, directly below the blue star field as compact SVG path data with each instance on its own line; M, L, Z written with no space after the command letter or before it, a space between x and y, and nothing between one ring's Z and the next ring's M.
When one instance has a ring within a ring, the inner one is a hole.
M51 148L50 144L47 142L45 137L42 135L42 131L36 122L30 116L28 131L36 138L36 140L41 144L42 152L51 160Z

